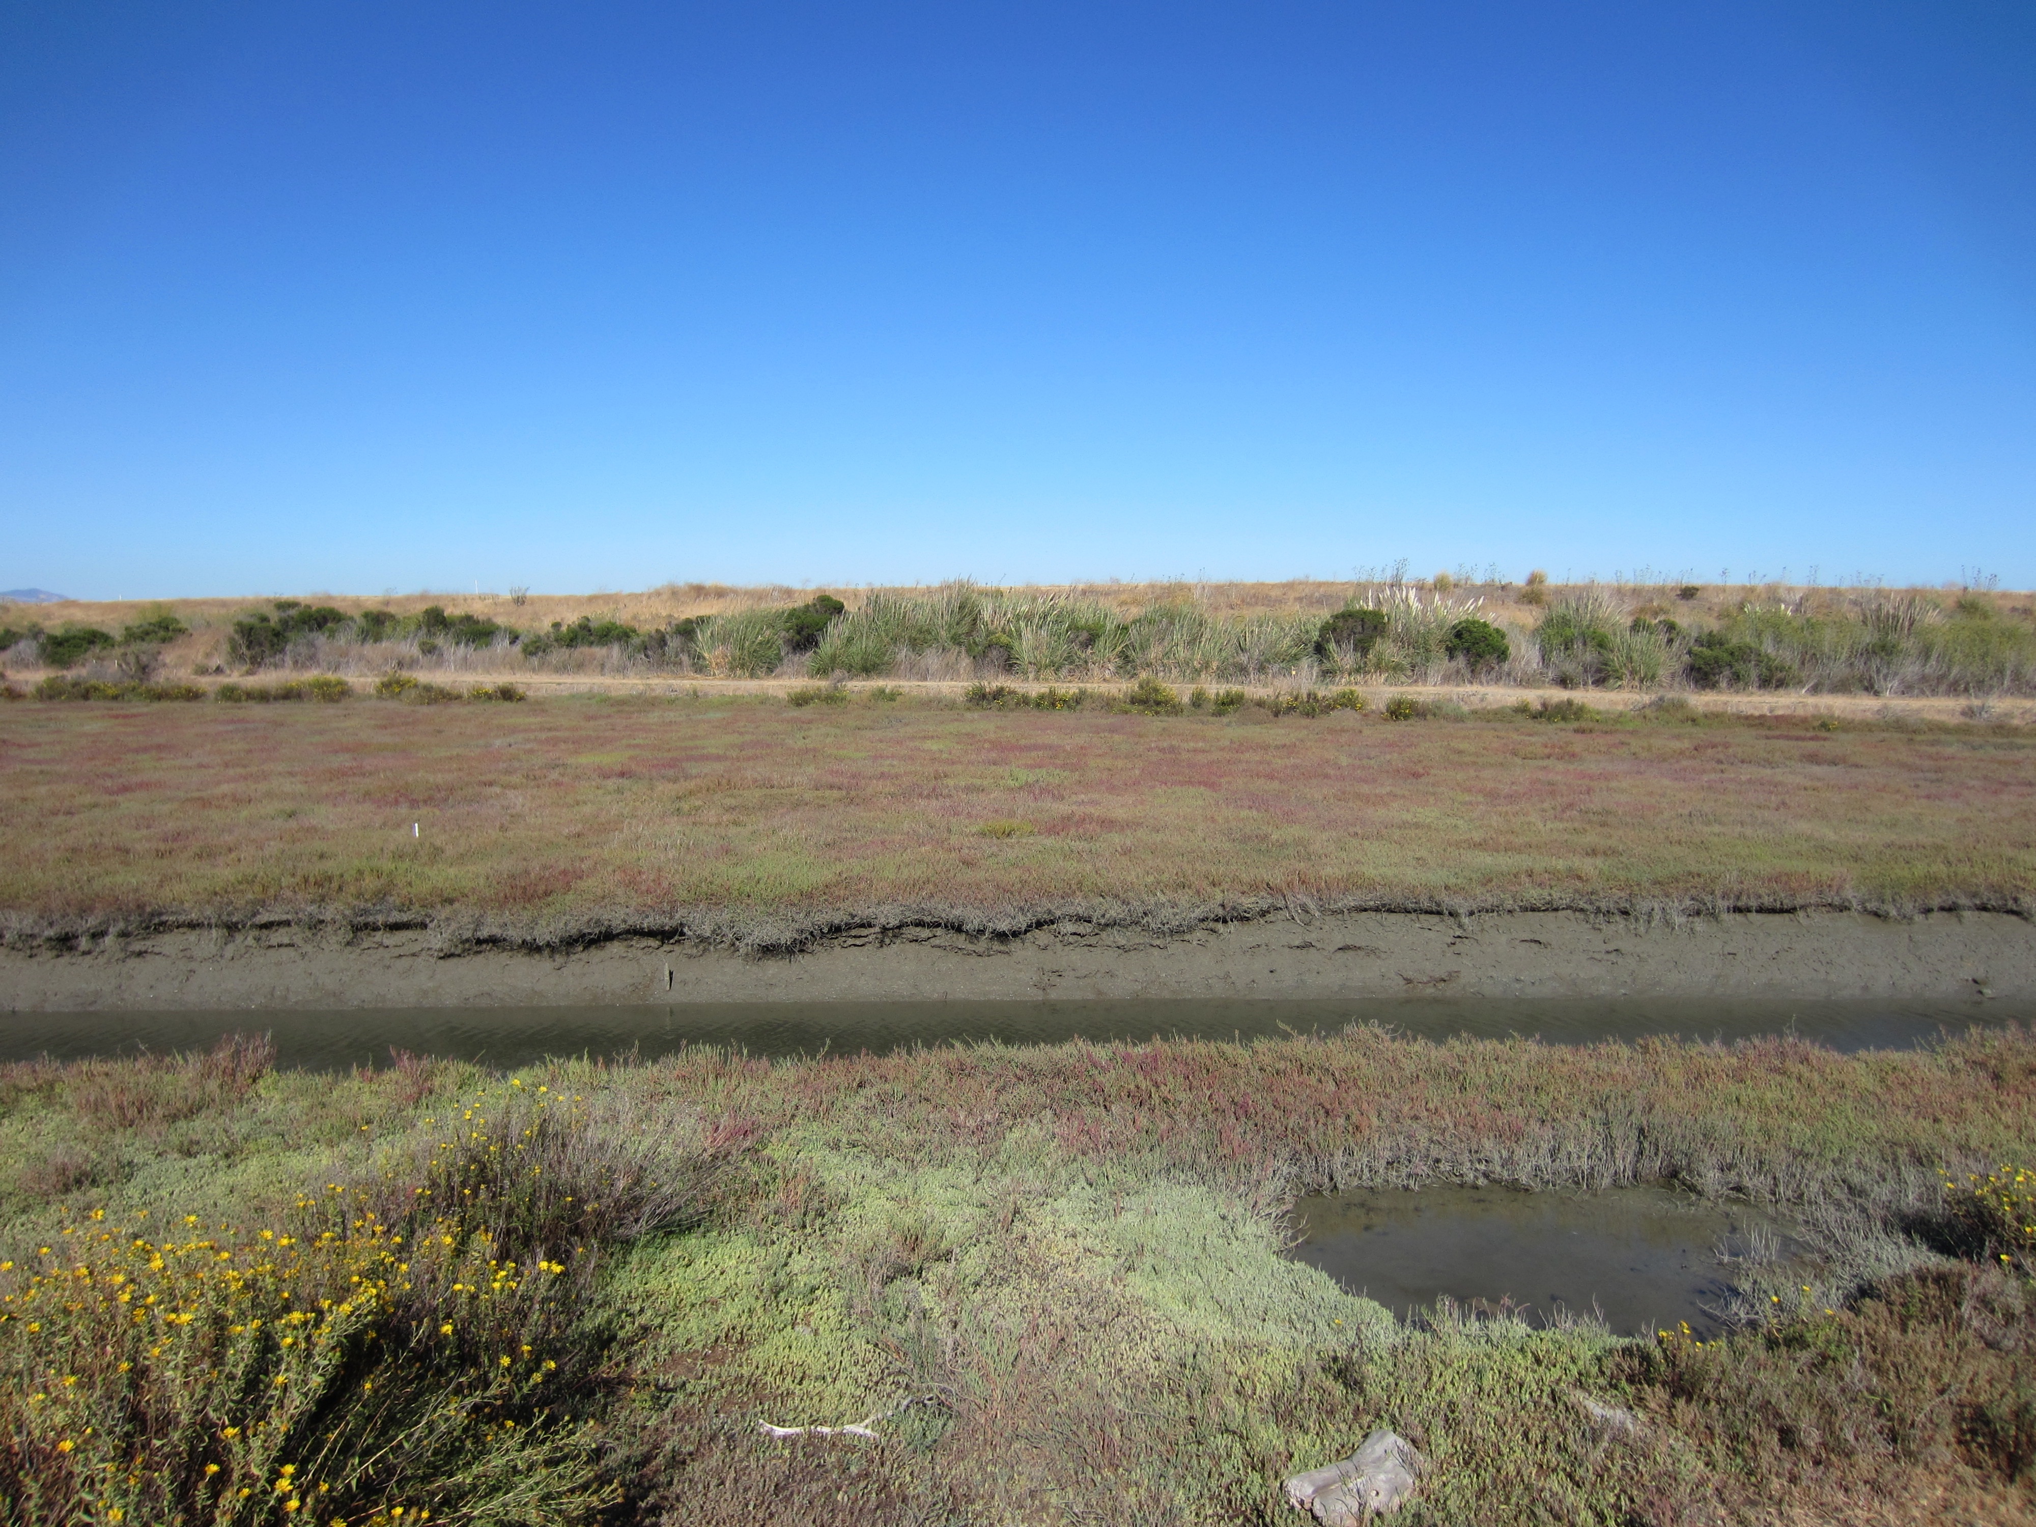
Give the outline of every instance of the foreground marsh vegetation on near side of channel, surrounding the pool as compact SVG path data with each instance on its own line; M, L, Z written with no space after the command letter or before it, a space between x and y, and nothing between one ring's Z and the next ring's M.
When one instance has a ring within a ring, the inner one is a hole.
M2032 1146L2022 1030L18 1065L0 1501L1275 1523L1283 1474L1393 1425L1431 1460L1415 1527L2030 1521L2036 1238L1999 1167ZM1739 1264L1712 1344L1401 1327L1281 1256L1303 1189L1437 1179L1737 1193L1816 1256Z

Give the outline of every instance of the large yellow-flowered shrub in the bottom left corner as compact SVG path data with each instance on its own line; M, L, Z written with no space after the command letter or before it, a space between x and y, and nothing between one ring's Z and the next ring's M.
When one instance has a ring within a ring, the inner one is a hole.
M285 1226L104 1209L0 1262L0 1498L29 1521L582 1521L603 1242L696 1179L580 1099L495 1087Z

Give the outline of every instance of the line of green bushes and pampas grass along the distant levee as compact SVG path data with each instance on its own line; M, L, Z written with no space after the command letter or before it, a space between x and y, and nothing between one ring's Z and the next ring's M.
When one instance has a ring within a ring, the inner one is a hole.
M1496 592L1496 590L1488 590ZM1661 592L1663 597L1653 597ZM1696 588L1564 592L1519 605L1409 582L1364 584L1342 611L1218 611L1191 597L1126 611L1067 590L871 590L818 595L637 627L619 619L517 629L430 607L346 615L279 601L240 617L228 658L246 672L389 670L709 678L904 678L973 682L1560 684L1814 694L2030 694L2036 623L1979 597L1769 590L1700 605ZM1948 601L1948 603L1946 603ZM120 637L96 629L0 631L12 666L92 664L88 678L147 680L151 654L185 627L163 617ZM106 668L106 672L98 672ZM214 670L224 672L224 670Z

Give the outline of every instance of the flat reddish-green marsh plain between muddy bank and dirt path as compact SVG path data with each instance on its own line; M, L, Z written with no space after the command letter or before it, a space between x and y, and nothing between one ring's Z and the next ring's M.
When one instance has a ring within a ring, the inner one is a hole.
M16 932L1065 908L2026 906L2036 735L1586 709L0 706ZM1191 847L1191 851L1189 851ZM550 932L546 932L550 930Z

